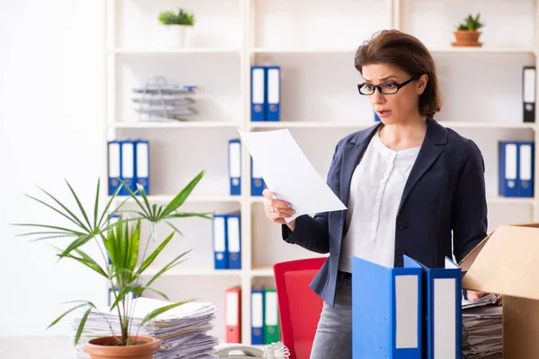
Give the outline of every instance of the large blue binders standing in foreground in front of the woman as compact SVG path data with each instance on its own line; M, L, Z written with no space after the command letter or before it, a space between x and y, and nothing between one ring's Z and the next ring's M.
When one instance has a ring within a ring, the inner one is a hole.
M403 267L352 261L353 357L460 359L462 270L446 258L428 268L404 257Z

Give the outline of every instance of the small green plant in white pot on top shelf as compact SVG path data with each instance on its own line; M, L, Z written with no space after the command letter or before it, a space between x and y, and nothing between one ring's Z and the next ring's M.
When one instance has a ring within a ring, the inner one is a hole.
M183 9L178 13L165 11L159 13L159 22L163 24L165 40L171 47L191 47L192 28L195 25L195 15Z

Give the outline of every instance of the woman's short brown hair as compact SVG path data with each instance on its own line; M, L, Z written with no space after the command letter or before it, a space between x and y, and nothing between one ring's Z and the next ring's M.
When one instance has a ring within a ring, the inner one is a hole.
M420 95L420 114L432 118L440 110L442 98L434 59L419 39L397 30L376 32L356 51L355 66L359 73L363 74L363 66L370 64L396 66L416 79L427 74L429 81Z

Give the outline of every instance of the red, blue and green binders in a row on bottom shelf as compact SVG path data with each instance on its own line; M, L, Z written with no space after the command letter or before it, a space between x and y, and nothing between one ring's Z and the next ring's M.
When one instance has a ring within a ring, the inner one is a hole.
M226 343L242 342L242 289L225 291ZM269 345L281 340L278 320L278 301L275 289L252 289L251 292L252 345Z

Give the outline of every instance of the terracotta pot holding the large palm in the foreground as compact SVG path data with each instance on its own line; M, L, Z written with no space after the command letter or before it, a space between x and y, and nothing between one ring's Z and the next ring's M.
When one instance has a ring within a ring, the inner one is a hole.
M114 337L97 337L84 343L84 352L92 359L153 359L154 353L161 348L159 342L153 337L132 336L131 342L142 341L137 346L110 346Z

